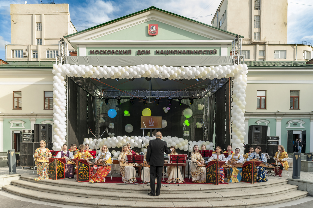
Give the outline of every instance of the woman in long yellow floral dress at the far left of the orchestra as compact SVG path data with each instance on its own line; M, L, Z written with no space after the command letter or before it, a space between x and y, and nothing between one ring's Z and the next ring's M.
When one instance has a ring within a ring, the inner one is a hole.
M41 140L39 147L34 153L34 157L44 159L47 162L36 162L38 177L34 178L35 181L49 179L49 158L52 158L52 154L48 148L46 148L46 142Z

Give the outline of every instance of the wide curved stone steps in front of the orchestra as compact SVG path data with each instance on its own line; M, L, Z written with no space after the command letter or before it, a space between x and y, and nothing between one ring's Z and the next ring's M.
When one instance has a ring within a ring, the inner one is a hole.
M288 180L268 182L169 185L160 196L148 196L150 186L133 184L78 183L74 179L34 181L21 176L4 191L40 201L89 207L255 207L292 201L307 196ZM108 179L110 180L110 179Z

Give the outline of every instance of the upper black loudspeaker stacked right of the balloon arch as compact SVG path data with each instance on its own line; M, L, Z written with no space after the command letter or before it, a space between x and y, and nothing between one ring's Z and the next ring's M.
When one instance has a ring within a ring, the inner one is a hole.
M248 144L267 144L267 126L249 126Z

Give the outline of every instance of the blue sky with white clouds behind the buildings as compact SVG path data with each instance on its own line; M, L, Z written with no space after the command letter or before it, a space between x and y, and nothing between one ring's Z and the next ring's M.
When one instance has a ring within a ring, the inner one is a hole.
M151 6L211 25L221 0L42 0L42 3L68 3L71 22L77 31L146 9ZM247 0L248 1L248 0ZM11 43L10 4L23 0L0 0L0 58L5 44ZM27 0L28 4L40 3ZM313 43L313 0L288 1L288 41ZM96 16L95 16L96 14Z

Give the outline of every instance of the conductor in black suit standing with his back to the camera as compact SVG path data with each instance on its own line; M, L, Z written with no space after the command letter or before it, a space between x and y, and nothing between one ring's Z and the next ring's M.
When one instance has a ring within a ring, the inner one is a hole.
M146 160L150 165L150 193L149 196L159 196L161 191L162 171L164 166L164 152L172 153L172 150L167 148L166 141L162 141L162 133L156 132L156 139L150 140L147 148ZM156 179L156 190L155 190Z

